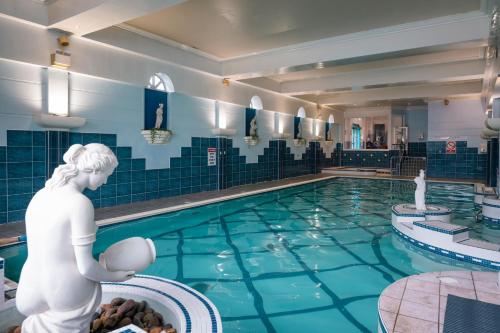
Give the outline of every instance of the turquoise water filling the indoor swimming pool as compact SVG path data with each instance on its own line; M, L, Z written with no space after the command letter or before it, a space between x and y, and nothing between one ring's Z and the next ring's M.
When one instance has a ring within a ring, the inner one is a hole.
M340 178L101 228L95 253L152 238L144 273L186 283L218 307L224 331L376 332L377 299L393 281L481 269L410 247L391 230L391 205L413 201L407 181ZM478 237L472 186L428 184L428 202L454 209ZM25 246L0 250L17 280Z

